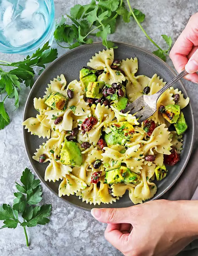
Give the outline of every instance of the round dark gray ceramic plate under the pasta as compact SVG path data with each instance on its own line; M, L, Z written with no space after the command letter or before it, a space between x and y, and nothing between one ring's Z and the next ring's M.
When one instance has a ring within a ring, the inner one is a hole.
M118 46L118 48L115 49L116 59L126 59L131 57L138 58L138 75L144 74L146 76L152 77L153 74L157 73L161 78L164 79L164 81L169 81L175 75L173 70L166 63L164 63L164 61L162 61L152 53L125 43L117 42L116 45ZM68 83L74 79L79 79L79 70L83 66L86 66L89 59L92 58L92 56L95 55L96 52L103 50L103 48L104 47L101 43L83 45L81 47L75 48L74 50L66 52L66 54L55 60L39 76L34 86L32 87L32 90L28 96L25 105L23 120L26 120L27 118L32 116L36 116L37 111L34 109L33 99L34 97L43 97L45 88L47 87L47 84L50 82L50 80L53 80L54 77L57 77L57 75L60 74L65 75ZM177 82L174 87L181 89L181 91L184 93L184 96L187 97L186 90L181 82ZM184 115L189 128L184 135L184 149L181 153L181 161L177 165L168 168L168 175L165 179L163 179L161 182L157 184L158 190L156 195L152 198L152 200L161 197L168 189L170 189L171 186L173 186L173 184L176 182L176 180L183 172L190 157L194 137L194 120L190 104L184 109ZM48 165L48 163L39 164L38 162L32 159L35 149L39 148L39 145L45 142L46 139L39 139L38 136L30 135L30 133L28 133L27 130L25 130L24 128L23 136L26 153L28 155L32 168L34 169L39 179L43 182L43 184L45 184L51 191L53 191L58 196L58 186L60 182L54 183L46 182L44 180L45 168ZM66 202L73 204L74 206L86 210L90 210L91 208L94 207L93 205L82 202L82 199L79 199L75 195L70 195L69 197L64 196L63 199ZM96 205L95 207L128 207L132 205L133 203L129 199L128 193L126 193L122 198L120 198L120 200L117 200L117 202L113 203L113 205L101 204L100 206Z

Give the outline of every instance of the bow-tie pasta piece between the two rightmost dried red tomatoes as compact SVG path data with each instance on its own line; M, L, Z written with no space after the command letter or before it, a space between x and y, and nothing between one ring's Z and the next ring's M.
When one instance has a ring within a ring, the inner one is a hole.
M142 140L141 143L144 144L142 146L144 155L148 153L153 155L153 149L155 149L157 153L170 155L172 143L170 131L165 127L165 124L157 126L151 134L150 139L147 141Z

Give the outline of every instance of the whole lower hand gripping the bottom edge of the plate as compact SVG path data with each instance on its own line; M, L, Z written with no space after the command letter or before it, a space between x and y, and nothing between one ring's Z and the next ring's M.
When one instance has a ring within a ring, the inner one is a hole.
M197 206L197 201L155 200L91 213L108 223L105 238L125 256L173 256L198 234Z

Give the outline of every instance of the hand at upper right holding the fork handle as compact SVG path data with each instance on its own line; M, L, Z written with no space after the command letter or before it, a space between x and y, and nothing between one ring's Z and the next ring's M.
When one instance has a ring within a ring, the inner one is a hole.
M186 69L187 80L198 83L198 12L193 14L169 54L177 72Z

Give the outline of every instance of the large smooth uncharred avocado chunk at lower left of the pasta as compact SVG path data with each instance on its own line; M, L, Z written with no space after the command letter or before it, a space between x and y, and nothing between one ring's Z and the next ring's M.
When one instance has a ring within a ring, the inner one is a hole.
M61 163L65 165L80 166L83 162L81 151L73 141L64 141L60 156Z

